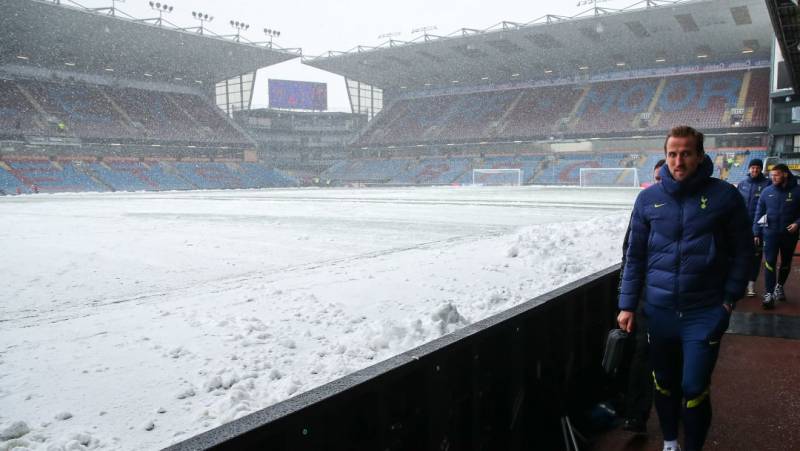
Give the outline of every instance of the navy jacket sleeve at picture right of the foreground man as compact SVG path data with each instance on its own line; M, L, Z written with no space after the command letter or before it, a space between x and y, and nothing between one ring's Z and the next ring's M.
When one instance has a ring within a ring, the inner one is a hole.
M724 299L728 302L736 302L744 295L755 248L753 234L750 232L752 223L747 215L747 207L741 196L731 196L731 199L730 215L725 221L725 235L731 249L731 267L725 280ZM759 200L759 208L761 204L762 202Z

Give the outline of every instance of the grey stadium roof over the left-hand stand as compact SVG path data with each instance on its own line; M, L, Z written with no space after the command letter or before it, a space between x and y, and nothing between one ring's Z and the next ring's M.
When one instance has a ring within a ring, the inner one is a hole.
M40 0L2 0L0 66L26 64L146 80L214 83L300 56L299 49L236 42L135 19L108 8ZM121 16L127 17L121 17ZM244 41L244 39L241 39ZM145 75L145 74L149 74Z

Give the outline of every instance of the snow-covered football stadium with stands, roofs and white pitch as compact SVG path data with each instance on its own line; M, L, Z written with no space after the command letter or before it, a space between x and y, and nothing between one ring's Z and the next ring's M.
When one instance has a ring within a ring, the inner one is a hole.
M604 3L312 56L2 0L0 451L661 449L601 365L634 201L681 124L800 170L800 7ZM257 75L293 60L348 111ZM706 449L800 448L788 277Z

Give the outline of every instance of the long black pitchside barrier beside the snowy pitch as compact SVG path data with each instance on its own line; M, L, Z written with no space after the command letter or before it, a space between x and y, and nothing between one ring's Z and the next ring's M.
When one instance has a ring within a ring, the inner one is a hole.
M619 266L168 448L559 450L600 398Z

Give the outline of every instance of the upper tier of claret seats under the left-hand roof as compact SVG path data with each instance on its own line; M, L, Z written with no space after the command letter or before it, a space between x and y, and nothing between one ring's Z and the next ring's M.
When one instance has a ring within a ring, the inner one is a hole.
M221 111L197 95L19 79L0 83L0 100L0 135L4 136L248 142Z

